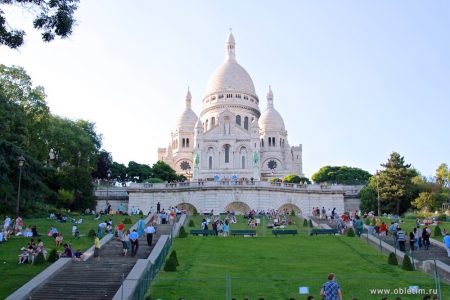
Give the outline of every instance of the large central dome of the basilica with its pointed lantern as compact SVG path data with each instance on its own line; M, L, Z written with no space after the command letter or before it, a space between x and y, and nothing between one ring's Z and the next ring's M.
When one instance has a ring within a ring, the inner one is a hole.
M233 34L228 35L227 57L211 76L205 96L218 92L240 92L256 96L255 85L247 71L236 61Z

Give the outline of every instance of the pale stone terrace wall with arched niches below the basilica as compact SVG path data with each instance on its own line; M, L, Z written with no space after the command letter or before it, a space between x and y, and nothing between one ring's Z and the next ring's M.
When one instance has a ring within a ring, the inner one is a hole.
M274 184L269 182L232 183L205 182L178 184L133 184L128 187L128 209L141 209L147 214L155 210L156 204L161 208L172 206L191 207L198 212L216 213L238 210L240 213L255 210L294 209L309 214L312 207L336 208L338 214L358 205L354 196L361 187ZM350 199L350 200L347 200ZM347 202L349 201L349 205ZM110 201L111 203L111 201ZM119 202L118 202L119 203ZM118 205L117 203L117 205ZM98 202L102 208L103 201ZM113 204L114 208L114 204Z

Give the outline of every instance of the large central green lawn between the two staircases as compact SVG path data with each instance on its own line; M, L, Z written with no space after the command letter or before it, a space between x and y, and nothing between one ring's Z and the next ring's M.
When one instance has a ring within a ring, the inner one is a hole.
M200 226L195 217L195 228ZM262 228L258 237L195 237L176 239L180 266L177 272L161 271L152 283L152 299L306 299L299 287L319 291L329 272L337 275L344 299L381 299L371 295L377 288L434 288L434 279L421 272L405 272L387 265L387 257L364 241L346 236L308 236L307 227L297 219L298 236L272 236ZM231 229L247 228L239 219ZM292 227L291 227L292 228ZM189 228L187 228L189 232ZM228 278L227 278L228 277ZM401 296L422 299L423 296ZM443 286L443 299L449 299L449 286ZM395 299L389 295L389 299Z

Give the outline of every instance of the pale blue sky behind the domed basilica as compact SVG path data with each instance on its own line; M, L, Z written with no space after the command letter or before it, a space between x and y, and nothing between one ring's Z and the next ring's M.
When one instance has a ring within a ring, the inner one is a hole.
M7 8L26 42L0 47L53 113L95 122L116 161L156 161L187 86L200 112L232 27L261 111L270 84L307 176L324 165L373 173L392 151L426 176L450 163L448 1L128 3L81 1L74 34L49 44L32 16Z

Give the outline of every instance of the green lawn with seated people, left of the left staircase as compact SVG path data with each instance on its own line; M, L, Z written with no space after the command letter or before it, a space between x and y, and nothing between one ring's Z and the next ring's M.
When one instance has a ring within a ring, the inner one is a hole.
M80 217L76 217L76 219L78 218ZM74 239L71 235L73 224L70 223L70 220L68 223L59 223L50 219L24 219L24 225L37 226L38 232L41 234L39 238L44 242L44 246L48 252L50 249L56 248L54 238L47 236L51 226L55 226L58 232L63 234L63 243L69 242L73 250L81 248L84 251L93 245L93 239L87 236L89 230L94 229L97 231L97 225L100 221L94 220L93 216L81 216L81 218L83 218L83 223L78 225L81 234L79 239ZM124 216L112 216L113 224L119 224L124 218ZM133 216L132 221L136 222L138 218L138 216ZM101 220L105 220L105 218L103 217ZM37 238L35 238L35 241L37 241ZM27 242L28 239L24 237L11 237L8 242L0 244L0 274L2 274L0 299L7 297L49 266L49 263L41 266L18 264L18 255L21 252L20 248L25 247ZM62 251L63 247L59 247L58 250Z

